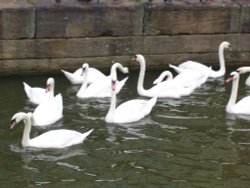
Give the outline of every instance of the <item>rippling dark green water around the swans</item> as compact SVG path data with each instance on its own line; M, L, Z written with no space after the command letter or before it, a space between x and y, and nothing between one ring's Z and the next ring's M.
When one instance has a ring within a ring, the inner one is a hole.
M147 72L145 87L159 73ZM142 121L117 125L104 121L109 99L79 100L79 86L54 76L64 117L47 128L33 127L31 136L58 128L95 130L83 144L66 149L23 148L23 125L9 130L14 113L34 109L22 81L42 87L48 76L0 78L1 187L250 186L250 118L225 113L231 84L224 78L210 80L188 97L160 99ZM118 103L142 98L136 80L137 72L130 73ZM249 95L250 88L241 86L239 97Z

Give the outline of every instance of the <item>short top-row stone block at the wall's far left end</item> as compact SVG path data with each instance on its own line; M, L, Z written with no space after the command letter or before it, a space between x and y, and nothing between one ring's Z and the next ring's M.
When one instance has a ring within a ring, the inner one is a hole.
M32 38L35 33L35 9L0 10L0 38Z

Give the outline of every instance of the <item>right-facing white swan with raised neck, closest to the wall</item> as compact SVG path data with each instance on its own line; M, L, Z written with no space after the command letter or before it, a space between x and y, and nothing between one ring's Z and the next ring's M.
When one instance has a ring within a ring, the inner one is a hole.
M209 72L208 76L211 78L218 78L218 77L224 76L226 73L225 58L224 58L224 49L225 48L228 48L231 50L230 43L227 41L223 41L219 46L218 54L219 54L220 68L217 71L212 70L212 69L210 69L210 67L207 67L207 66L200 64L198 62L195 62L195 61L186 61L186 62L180 64L179 68L191 69L191 70L195 70L195 71L199 71L199 72ZM181 69L176 70L176 72L180 73Z

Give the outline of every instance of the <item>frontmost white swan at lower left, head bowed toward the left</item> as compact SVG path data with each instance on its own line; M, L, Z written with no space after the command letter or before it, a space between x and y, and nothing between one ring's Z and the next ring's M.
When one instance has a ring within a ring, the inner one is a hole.
M43 133L35 138L30 138L32 126L32 113L19 112L11 118L11 129L19 123L24 122L24 131L22 137L23 147L34 148L65 148L71 145L82 143L86 137L93 131L79 133L73 130L59 129Z

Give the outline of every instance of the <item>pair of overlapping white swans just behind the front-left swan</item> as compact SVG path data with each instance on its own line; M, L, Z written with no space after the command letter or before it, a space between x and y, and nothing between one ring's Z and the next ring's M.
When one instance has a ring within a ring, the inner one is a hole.
M33 112L35 126L47 126L55 123L63 116L62 95L54 96L54 78L48 78L46 88L32 88L24 83L24 90L29 100L39 104Z

